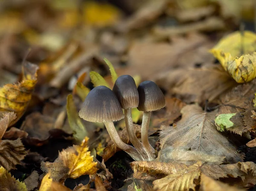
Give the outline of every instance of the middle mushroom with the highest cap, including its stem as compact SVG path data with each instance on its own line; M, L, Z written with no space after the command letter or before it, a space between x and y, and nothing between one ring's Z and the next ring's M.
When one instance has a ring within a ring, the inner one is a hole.
M139 93L133 77L130 75L122 75L118 77L113 87L113 92L116 94L121 107L125 111L125 125L129 140L144 160L148 160L145 148L136 137L131 117L131 108L137 108L139 105Z

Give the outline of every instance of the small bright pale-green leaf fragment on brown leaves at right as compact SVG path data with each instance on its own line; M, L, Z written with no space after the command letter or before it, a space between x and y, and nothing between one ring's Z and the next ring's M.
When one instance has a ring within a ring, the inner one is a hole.
M215 125L217 126L218 131L224 131L225 129L232 127L234 123L230 121L230 118L234 115L236 115L236 113L220 114L215 117Z

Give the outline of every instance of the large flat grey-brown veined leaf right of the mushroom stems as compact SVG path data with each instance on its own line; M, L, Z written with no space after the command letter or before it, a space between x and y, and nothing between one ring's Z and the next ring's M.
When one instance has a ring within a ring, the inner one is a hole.
M160 161L165 162L174 157L177 161L203 160L207 162L221 162L225 158L228 162L242 161L242 155L229 143L226 137L220 134L212 123L216 112L205 113L198 105L186 105L181 110L182 118L177 126L166 127L160 132ZM166 153L169 148L174 153ZM183 148L189 148L183 149ZM198 155L194 155L195 152ZM210 155L210 156L208 156ZM216 158L215 158L216 157ZM163 161L165 160L165 161ZM174 160L174 161L175 161Z

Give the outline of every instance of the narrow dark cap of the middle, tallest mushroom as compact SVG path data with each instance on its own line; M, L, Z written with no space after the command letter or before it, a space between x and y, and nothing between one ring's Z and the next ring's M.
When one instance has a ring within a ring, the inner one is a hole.
M117 78L113 92L122 108L137 108L139 105L139 93L133 77L122 75Z

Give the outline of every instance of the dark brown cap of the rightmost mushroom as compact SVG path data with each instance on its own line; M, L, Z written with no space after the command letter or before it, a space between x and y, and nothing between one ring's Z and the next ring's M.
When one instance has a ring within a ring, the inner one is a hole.
M160 88L152 81L144 81L138 87L140 102L138 110L155 111L165 106L165 98Z

